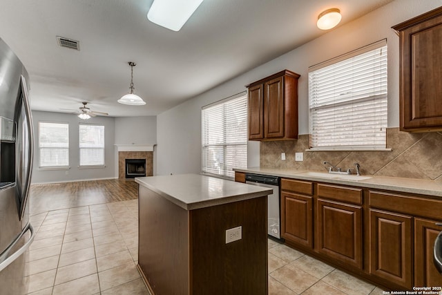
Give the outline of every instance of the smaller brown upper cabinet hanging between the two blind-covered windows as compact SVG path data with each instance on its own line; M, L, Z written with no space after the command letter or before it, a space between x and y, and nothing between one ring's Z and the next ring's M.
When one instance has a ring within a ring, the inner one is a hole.
M298 138L298 79L289 70L253 82L249 88L249 140Z

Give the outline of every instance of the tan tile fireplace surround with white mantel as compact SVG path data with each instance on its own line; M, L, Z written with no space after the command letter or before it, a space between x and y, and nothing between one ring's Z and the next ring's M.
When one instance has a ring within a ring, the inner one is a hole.
M118 178L124 179L126 159L145 159L146 176L153 175L153 146L154 144L118 144Z

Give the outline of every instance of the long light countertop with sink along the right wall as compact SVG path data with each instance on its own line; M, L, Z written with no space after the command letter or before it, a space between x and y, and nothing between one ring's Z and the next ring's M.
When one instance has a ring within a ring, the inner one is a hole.
M387 191L398 191L402 193L414 193L427 196L442 197L442 182L436 182L434 180L394 178L374 175L362 175L362 177L358 178L356 175L340 175L327 172L314 172L291 169L267 169L259 167L233 170L245 173L274 175L298 180L312 180L333 184L353 185L356 187L366 187L369 189L384 189Z

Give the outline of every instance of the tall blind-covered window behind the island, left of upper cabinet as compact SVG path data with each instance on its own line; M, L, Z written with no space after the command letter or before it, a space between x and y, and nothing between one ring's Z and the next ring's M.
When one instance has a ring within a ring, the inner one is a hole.
M234 178L247 167L247 95L202 108L202 172Z

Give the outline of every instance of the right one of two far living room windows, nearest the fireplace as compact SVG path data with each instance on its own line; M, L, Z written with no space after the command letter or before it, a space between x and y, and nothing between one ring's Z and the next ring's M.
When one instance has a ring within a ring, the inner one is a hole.
M79 125L80 166L104 165L104 126Z

